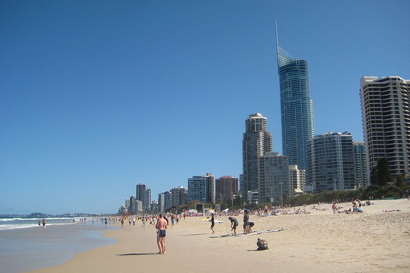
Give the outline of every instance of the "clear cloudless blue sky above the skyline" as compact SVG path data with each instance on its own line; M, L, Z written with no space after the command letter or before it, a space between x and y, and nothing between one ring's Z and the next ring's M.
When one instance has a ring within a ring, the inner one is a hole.
M279 45L315 134L363 140L362 76L410 79L408 1L0 1L0 214L116 213L239 177L250 114L282 153Z

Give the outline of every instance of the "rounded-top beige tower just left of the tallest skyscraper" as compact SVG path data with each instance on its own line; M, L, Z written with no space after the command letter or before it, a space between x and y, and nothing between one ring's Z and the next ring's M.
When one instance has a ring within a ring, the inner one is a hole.
M268 132L267 118L260 113L249 115L245 120L245 133L242 139L242 196L249 191L258 191L258 157L272 152L272 135Z

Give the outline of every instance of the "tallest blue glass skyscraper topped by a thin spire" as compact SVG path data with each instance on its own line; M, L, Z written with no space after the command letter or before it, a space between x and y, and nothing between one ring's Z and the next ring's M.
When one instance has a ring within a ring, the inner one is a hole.
M276 52L280 85L282 153L289 165L306 170L306 142L315 135L313 101L309 92L308 62L284 51L278 44Z

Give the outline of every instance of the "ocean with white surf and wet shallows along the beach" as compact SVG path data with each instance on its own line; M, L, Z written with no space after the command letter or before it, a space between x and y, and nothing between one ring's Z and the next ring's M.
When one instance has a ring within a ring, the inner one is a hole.
M49 267L70 260L75 254L115 243L102 238L112 227L88 218L0 219L0 271L17 273ZM73 222L74 219L74 222ZM38 221L41 225L38 226ZM97 224L98 223L98 224Z

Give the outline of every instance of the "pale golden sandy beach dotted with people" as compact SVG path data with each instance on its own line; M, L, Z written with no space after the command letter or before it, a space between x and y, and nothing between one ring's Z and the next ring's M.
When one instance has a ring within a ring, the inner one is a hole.
M117 243L29 272L153 271L158 267L171 272L409 272L410 200L372 202L361 214L334 215L331 204L321 204L316 205L320 210L306 206L311 214L251 215L253 230L283 230L243 237L211 238L231 233L227 216L215 218L224 222L215 224L214 235L209 222L187 217L169 227L165 255L156 255L152 225L143 229L139 221L135 226L127 223L104 234ZM348 209L351 203L339 206ZM241 232L242 216L236 218ZM268 250L256 251L258 237L268 241Z

